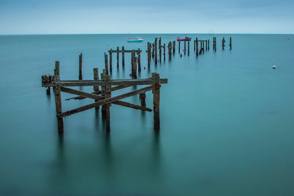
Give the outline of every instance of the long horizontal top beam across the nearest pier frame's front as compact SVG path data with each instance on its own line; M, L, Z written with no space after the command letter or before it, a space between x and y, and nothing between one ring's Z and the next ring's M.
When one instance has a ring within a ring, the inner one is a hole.
M168 79L160 79L161 84L167 84ZM53 81L42 82L42 87L62 87L62 86L116 86L116 85L154 85L152 79L136 79L136 80L92 80L92 81Z

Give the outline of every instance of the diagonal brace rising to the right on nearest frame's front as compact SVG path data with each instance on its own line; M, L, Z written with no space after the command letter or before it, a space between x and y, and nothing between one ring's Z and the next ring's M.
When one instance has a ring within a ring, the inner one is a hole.
M76 113L81 112L81 111L92 109L92 108L97 107L97 106L100 106L100 105L105 105L105 104L113 103L115 101L118 101L118 100L121 100L121 99L125 99L125 98L130 97L130 96L138 95L140 93L147 92L147 91L150 91L152 89L153 89L153 85L147 86L147 87L142 88L142 89L134 90L132 92L128 92L128 93L125 93L125 94L122 94L122 95L119 95L119 96L110 97L108 99L104 99L104 100L101 100L101 101L98 101L98 102L95 102L95 103L92 103L92 104L88 104L88 105L85 105L85 106L82 106L82 107L78 107L78 108L73 109L73 110L62 112L61 114L58 114L57 117L58 118L60 118L60 117L66 117L66 116L69 116L69 115L72 115L72 114L76 114Z

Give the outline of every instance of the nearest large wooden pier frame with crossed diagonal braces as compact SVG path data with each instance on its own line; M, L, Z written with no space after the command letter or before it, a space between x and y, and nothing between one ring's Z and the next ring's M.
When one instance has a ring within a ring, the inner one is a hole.
M92 108L99 108L102 106L102 117L106 118L106 131L110 131L110 106L111 104L117 104L124 107L130 107L142 111L153 111L154 116L154 129L160 129L160 87L161 84L167 84L167 79L160 79L159 74L152 73L150 78L146 79L122 79L113 80L111 75L106 75L106 70L103 70L101 74L101 80L98 77L98 68L93 69L94 80L67 80L61 81L59 76L59 61L55 62L54 75L42 75L42 87L53 87L55 95L56 117L58 122L58 132L63 132L63 119L66 116L70 116L81 111L89 110ZM111 97L111 92L119 89L128 88L134 85L148 85L147 87L137 89L128 93L124 93L118 96ZM94 92L82 92L68 87L73 86L93 86ZM99 90L101 86L101 90ZM146 94L145 92L153 92L153 110L146 107ZM61 92L77 95L77 97L70 98L68 100L80 100L90 98L95 100L94 103L88 104L82 107L78 107L69 111L62 112ZM141 106L121 101L130 96L140 94Z

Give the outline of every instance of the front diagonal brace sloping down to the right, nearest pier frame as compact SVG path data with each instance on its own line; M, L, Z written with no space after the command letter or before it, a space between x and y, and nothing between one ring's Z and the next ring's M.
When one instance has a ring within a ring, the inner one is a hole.
M99 96L99 95L95 95L95 94L88 93L88 92L82 92L82 91L78 91L78 90L75 90L75 89L69 89L69 88L66 88L66 87L60 87L60 89L61 89L62 92L83 96L85 98L90 98L90 99L94 99L94 100L104 100L104 96ZM150 112L152 111L148 107L142 107L142 106L135 105L135 104L130 104L130 103L124 102L124 101L115 101L115 102L113 102L113 104L121 105L121 106L125 106L125 107L130 107L130 108L134 108L134 109L137 109L137 110L144 110L144 111L150 111Z

